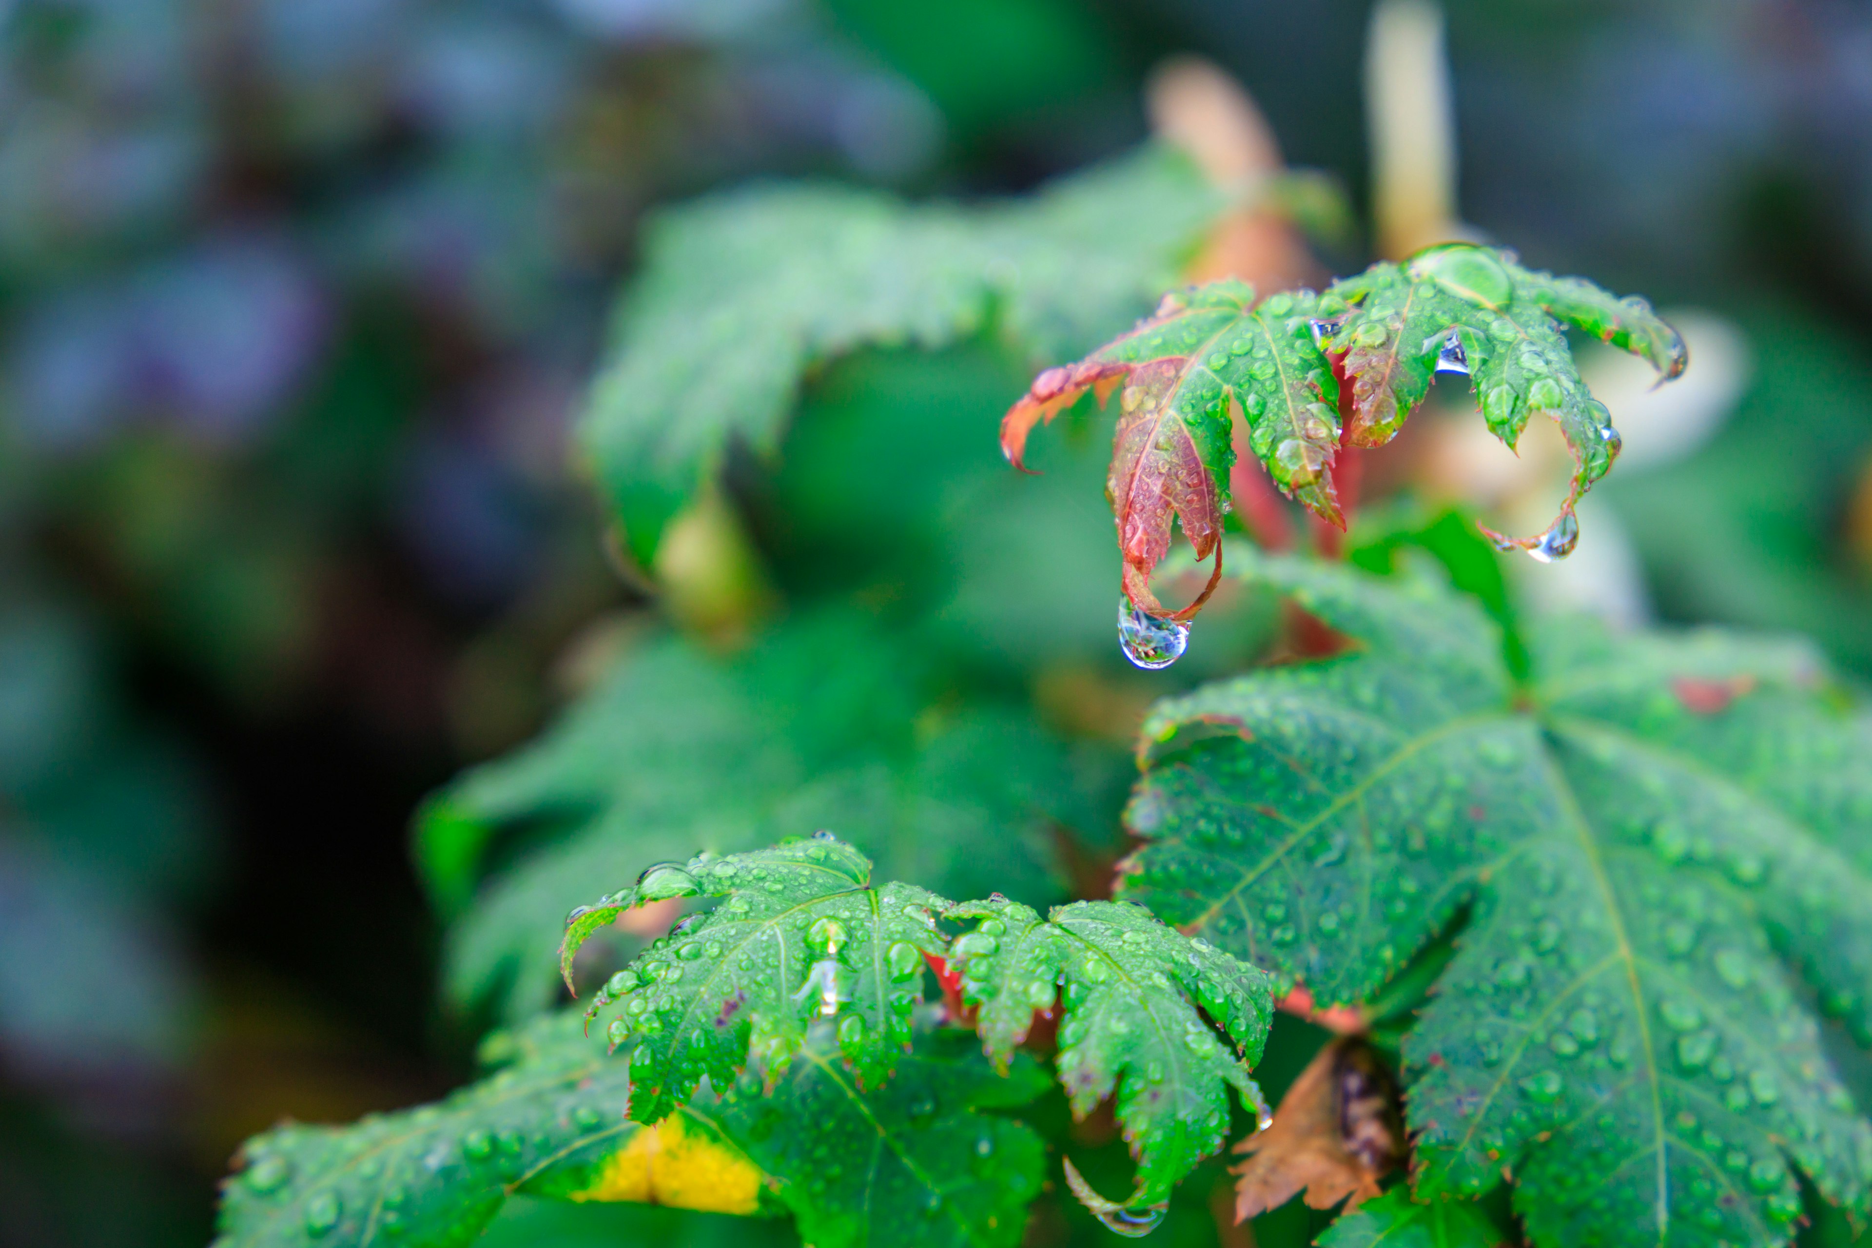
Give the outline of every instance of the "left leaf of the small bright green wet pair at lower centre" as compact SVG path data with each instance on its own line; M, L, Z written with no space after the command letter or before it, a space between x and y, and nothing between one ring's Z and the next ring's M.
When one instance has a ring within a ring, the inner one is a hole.
M747 1067L786 1068L807 1027L837 1022L839 1048L876 1087L910 1046L923 954L942 954L943 898L906 883L870 887L870 859L818 833L726 857L657 864L638 883L565 921L560 967L578 945L646 902L719 896L610 977L592 1012L623 1001L612 1044L635 1038L631 1117L653 1123L706 1076L726 1087Z

